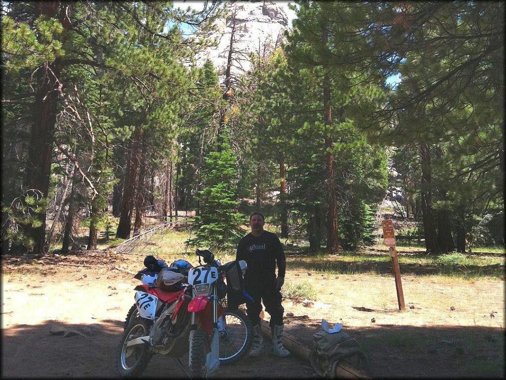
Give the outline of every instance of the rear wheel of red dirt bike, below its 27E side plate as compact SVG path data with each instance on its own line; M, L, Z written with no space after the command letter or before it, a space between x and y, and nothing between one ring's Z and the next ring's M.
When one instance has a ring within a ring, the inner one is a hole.
M128 341L149 334L151 322L142 318L132 318L126 327L116 354L116 370L120 377L137 376L149 363L151 353L145 345L126 347Z

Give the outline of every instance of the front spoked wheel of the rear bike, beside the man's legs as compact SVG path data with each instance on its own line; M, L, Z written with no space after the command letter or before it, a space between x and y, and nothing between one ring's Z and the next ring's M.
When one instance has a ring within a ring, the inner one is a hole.
M253 324L241 311L227 310L223 315L224 331L220 336L220 364L233 364L243 357L252 343Z

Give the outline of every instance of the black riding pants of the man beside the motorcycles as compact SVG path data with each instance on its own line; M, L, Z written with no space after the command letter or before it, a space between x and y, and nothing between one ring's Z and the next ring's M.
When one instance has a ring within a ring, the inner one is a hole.
M281 292L276 290L276 285L246 286L245 290L254 299L254 301L246 299L246 314L254 325L260 323L261 301L264 302L265 311L271 316L269 326L283 324L284 309L281 306Z

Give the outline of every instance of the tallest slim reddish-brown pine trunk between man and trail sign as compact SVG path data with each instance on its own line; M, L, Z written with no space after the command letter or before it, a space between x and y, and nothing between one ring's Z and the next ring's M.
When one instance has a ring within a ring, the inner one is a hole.
M326 36L324 37L326 41ZM325 69L325 68L324 68ZM323 76L323 123L330 126L332 124L332 105L330 99L330 79L328 74ZM335 176L334 176L334 155L332 153L333 141L331 136L325 136L326 167L327 167L327 197L328 197L328 216L327 216L327 250L336 253L339 250L339 216L338 202L335 196Z

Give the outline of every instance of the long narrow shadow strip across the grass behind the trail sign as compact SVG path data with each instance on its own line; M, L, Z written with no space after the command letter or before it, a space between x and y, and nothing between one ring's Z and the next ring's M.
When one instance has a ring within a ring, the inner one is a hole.
M377 257L377 255L370 255ZM390 260L360 260L349 261L340 259L339 256L325 261L305 261L297 259L300 257L293 255L286 262L286 268L292 270L308 270L323 271L336 274L359 274L359 273L375 273L378 275L392 274L392 262ZM425 257L425 256L424 256ZM315 260L318 260L315 258ZM402 275L430 276L430 275L447 275L458 277L485 277L493 276L504 279L504 265L460 265L460 264L419 264L419 263L399 263Z

